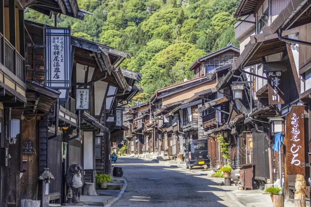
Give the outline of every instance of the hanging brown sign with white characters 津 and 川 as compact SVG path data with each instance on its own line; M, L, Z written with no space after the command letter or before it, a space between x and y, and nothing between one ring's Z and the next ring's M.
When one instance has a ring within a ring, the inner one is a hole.
M281 71L267 72L269 105L284 104Z

